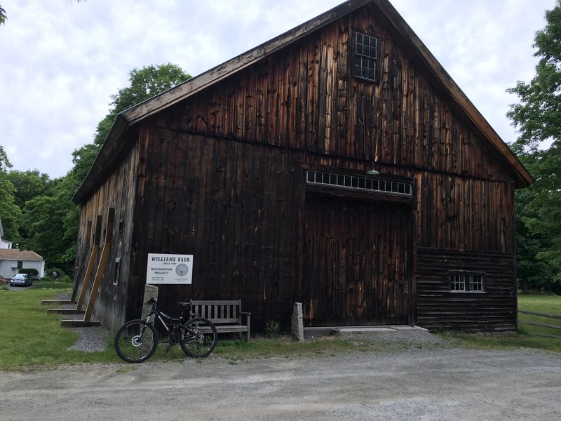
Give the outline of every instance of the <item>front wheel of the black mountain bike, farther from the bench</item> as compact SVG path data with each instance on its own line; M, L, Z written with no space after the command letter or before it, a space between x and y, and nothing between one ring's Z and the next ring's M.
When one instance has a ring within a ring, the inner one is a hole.
M142 363L156 352L158 341L158 332L151 323L131 320L117 331L115 351L128 363Z

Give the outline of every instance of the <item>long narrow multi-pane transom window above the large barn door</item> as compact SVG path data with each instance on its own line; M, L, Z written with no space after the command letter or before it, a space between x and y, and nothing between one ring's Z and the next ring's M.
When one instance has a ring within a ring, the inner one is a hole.
M412 196L413 191L411 183L408 182L375 180L358 175L336 174L326 171L308 170L306 182L309 185L324 185L363 192L396 194L398 196Z

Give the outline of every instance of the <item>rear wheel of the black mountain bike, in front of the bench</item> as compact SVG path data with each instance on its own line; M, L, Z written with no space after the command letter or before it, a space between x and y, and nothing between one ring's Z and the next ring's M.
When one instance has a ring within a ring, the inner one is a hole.
M195 317L181 326L180 345L189 356L207 356L215 349L218 333L215 325L203 317Z

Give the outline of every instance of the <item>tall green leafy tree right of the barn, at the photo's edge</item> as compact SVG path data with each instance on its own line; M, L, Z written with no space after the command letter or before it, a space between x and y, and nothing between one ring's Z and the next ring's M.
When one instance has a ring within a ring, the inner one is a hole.
M534 277L539 274L539 283L561 293L561 0L546 12L546 21L534 38L536 75L508 90L520 103L511 105L507 115L520 131L513 150L536 179L516 196L523 234L518 269L523 274L520 262L539 261Z

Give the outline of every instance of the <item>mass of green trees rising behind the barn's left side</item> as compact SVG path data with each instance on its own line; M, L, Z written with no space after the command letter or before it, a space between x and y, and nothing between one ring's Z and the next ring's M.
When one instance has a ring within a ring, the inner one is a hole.
M72 196L88 175L117 115L191 77L171 64L133 69L129 76L130 86L111 95L109 113L98 124L93 142L73 152L74 166L64 178L49 183L38 171L10 173L18 186L13 199L22 209L22 247L35 250L48 265L72 272L80 216L80 206L72 203Z

